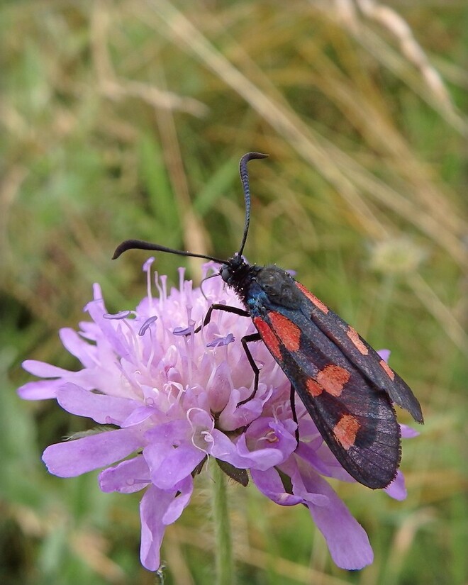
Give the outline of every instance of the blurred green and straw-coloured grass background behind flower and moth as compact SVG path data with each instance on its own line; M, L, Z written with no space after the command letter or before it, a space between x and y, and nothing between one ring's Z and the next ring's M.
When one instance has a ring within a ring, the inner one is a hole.
M230 486L239 584L466 584L466 1L10 1L0 8L0 581L150 584L139 494L48 476L43 449L86 421L22 402L27 357L77 367L57 338L99 281L145 294L125 238L247 257L298 278L413 387L408 498L336 485L375 561L333 566L305 508ZM181 260L157 257L177 280ZM199 264L189 263L196 279ZM403 422L409 422L404 413ZM213 582L209 477L162 547L166 584Z

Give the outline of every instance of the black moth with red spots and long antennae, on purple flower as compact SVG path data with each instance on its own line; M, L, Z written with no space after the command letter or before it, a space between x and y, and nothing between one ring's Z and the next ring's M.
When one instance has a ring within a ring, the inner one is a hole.
M277 266L250 265L243 258L250 222L247 162L265 157L260 152L248 152L240 160L245 228L240 249L229 260L141 240L121 243L113 258L138 248L221 264L221 278L238 294L245 311L213 304L204 325L214 310L252 318L257 333L241 340L255 374L252 396L257 390L260 370L248 343L263 340L291 382L291 396L294 391L299 394L342 467L364 486L384 488L396 476L401 458L401 432L393 403L423 423L420 404L408 385L357 331L305 286Z

